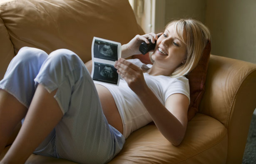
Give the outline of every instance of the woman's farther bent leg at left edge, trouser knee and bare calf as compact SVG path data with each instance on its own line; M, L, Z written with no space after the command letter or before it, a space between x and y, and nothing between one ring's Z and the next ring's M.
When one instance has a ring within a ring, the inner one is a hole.
M35 92L34 78L47 57L47 53L37 48L21 48L0 81L0 152L27 113Z

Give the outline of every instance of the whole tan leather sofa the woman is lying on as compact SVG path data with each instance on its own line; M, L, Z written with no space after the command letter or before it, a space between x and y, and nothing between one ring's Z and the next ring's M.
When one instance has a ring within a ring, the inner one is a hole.
M143 31L128 0L1 0L0 79L23 46L47 53L67 48L87 62L93 36L124 44L136 34ZM211 55L199 112L189 121L181 144L171 145L154 123L149 123L127 138L123 150L109 164L239 164L255 97L256 64ZM19 128L17 125L0 159ZM74 162L31 154L26 163Z

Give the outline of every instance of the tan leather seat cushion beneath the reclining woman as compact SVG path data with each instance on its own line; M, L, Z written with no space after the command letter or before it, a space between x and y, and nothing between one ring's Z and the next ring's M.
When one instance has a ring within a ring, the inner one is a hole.
M227 130L216 119L197 113L189 121L184 140L173 146L149 124L128 137L123 150L109 164L189 163L221 164L226 161ZM63 163L64 160L32 154L27 163ZM69 163L67 163L69 164Z

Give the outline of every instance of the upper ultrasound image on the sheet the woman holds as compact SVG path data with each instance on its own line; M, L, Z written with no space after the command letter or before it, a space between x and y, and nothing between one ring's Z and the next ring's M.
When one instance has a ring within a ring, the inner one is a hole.
M94 58L116 61L118 59L117 47L117 44L95 39L93 48Z

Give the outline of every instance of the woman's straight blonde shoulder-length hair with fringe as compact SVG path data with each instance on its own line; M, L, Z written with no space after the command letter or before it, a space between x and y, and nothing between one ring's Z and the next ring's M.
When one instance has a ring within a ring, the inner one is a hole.
M187 56L186 62L179 65L171 77L179 77L188 74L198 64L204 48L211 39L209 29L201 22L195 19L180 19L169 22L165 29L174 25L174 32L179 39L186 44ZM187 40L183 38L183 32L186 30ZM151 56L150 56L151 58Z

